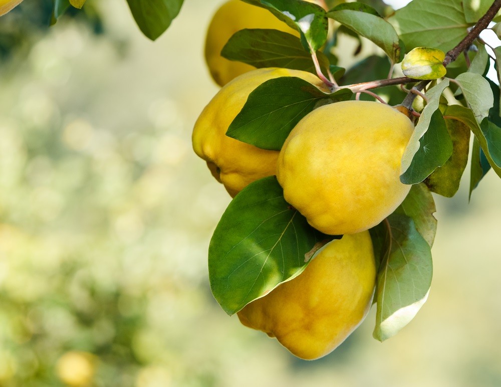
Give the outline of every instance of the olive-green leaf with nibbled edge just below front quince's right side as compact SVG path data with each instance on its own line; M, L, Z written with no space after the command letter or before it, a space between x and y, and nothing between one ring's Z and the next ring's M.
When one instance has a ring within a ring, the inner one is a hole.
M430 247L433 246L437 231L437 220L433 216L435 212L433 196L423 183L412 185L405 200L395 210L395 214L412 218L416 230Z

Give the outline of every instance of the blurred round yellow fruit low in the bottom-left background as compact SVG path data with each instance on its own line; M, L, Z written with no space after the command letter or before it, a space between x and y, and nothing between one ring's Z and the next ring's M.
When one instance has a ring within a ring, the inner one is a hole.
M89 352L70 351L56 364L59 378L72 386L89 385L94 377L95 355Z

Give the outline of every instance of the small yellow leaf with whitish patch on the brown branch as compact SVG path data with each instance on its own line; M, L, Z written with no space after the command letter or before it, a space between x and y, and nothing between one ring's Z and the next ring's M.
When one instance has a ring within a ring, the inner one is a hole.
M406 77L414 79L437 79L445 76L447 70L442 65L445 53L430 47L416 47L405 55L402 71Z

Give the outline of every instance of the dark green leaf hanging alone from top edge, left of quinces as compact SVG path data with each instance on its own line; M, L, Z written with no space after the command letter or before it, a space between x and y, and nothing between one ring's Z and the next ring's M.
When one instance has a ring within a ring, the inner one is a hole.
M127 0L127 3L141 32L155 40L179 14L183 0Z

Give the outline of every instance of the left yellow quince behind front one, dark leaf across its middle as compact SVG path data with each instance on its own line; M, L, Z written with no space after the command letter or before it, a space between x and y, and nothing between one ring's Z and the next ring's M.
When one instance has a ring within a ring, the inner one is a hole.
M279 77L299 77L327 90L306 71L281 68L257 69L232 80L212 98L198 117L192 141L195 153L207 161L217 181L234 197L247 184L276 173L279 152L265 150L226 136L231 121L248 95L263 82Z

